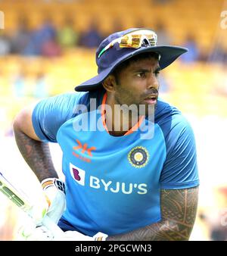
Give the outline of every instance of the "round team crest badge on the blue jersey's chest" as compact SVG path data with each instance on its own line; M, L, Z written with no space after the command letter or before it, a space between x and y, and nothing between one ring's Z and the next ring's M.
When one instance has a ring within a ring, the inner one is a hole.
M145 167L145 165L148 164L149 160L148 150L142 146L132 148L132 150L128 154L128 160L133 167Z

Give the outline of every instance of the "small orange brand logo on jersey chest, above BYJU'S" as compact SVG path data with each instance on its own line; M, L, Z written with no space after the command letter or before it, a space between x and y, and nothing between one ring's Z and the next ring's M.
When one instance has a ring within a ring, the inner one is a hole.
M82 143L79 141L79 139L76 139L76 142L78 145L73 147L73 155L76 158L81 159L82 161L86 161L86 162L90 163L91 158L92 158L92 151L95 151L96 148L95 147L88 148L87 143L82 145Z

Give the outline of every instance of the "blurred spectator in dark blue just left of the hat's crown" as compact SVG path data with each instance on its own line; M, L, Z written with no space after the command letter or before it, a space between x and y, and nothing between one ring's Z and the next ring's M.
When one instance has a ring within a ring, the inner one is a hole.
M82 33L80 44L87 48L96 48L102 41L102 36L98 30L98 24L94 21L90 26L89 30Z

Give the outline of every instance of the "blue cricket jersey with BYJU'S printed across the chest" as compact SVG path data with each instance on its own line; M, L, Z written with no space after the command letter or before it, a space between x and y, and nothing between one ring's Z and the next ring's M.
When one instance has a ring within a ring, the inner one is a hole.
M62 220L88 236L156 223L160 189L199 185L194 134L176 108L157 101L150 139L141 136L145 129L110 136L100 109L93 108L103 98L102 90L67 93L40 101L33 111L37 136L58 142L63 151L67 210ZM148 123L145 118L139 128Z

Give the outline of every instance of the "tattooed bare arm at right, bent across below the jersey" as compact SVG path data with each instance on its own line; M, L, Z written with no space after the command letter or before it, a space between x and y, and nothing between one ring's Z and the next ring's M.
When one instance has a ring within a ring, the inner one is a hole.
M162 220L130 233L109 236L110 241L179 241L188 240L197 213L198 187L162 189L160 207Z

